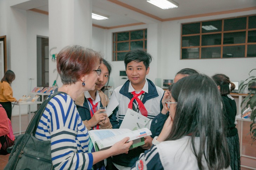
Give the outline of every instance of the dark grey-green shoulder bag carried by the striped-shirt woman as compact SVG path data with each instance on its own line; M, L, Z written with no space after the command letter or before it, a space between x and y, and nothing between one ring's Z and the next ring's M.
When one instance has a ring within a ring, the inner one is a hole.
M4 170L53 169L50 141L42 141L35 138L35 132L47 103L60 93L63 92L56 92L43 101L29 123L25 134L21 134L15 139L9 161Z

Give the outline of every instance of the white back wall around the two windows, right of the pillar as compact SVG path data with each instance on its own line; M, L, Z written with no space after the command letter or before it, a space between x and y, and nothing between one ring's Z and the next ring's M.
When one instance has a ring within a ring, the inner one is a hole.
M150 64L150 73L147 76L155 82L156 78L174 79L175 74L182 68L193 68L200 73L212 76L216 73L223 73L230 77L231 81L241 81L248 77L251 69L255 68L255 58L227 58L227 59L180 59L181 47L181 24L188 22L199 22L205 20L222 19L255 14L256 10L247 12L200 17L193 19L175 20L162 22L161 24L145 24L133 27L110 29L106 31L106 57L111 61L115 87L119 84L119 71L125 70L123 61L112 61L112 33L136 29L148 29L147 52L153 56ZM93 38L94 34L93 34Z

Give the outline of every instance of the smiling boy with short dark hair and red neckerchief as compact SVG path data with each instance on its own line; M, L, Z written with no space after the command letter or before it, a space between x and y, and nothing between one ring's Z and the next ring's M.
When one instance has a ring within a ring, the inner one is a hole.
M133 109L143 116L153 119L163 108L161 103L164 91L160 87L146 79L149 73L149 64L152 57L143 50L130 51L124 57L128 81L117 87L112 94L119 102L112 115L109 117L113 128L119 128L127 109ZM128 154L113 156L113 163L117 169L129 169L133 166L140 154L149 149L152 138L145 138L145 145L129 150Z

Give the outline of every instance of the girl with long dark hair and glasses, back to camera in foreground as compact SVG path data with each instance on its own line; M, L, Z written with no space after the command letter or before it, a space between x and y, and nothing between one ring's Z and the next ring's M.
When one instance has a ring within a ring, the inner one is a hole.
M135 169L230 169L221 95L207 75L184 77L171 88L169 116L156 145L140 155Z

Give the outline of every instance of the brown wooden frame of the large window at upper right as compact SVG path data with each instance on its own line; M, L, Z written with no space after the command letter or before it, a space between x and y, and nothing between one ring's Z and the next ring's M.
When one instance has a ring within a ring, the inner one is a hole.
M256 30L256 28L251 28L248 29L248 25L249 25L249 17L250 16L255 16L254 15L246 15L246 16L239 16L239 17L230 17L230 18L224 18L224 19L217 19L217 20L207 20L207 21L200 21L200 22L191 22L191 23L182 23L181 24L181 54L180 54L180 59L181 60L191 60L191 59L221 59L223 58L223 47L225 46L239 46L239 45L245 45L245 52L244 52L244 57L231 57L231 58L247 58L247 46L248 45L256 45L256 43L248 43L248 31L254 31ZM235 19L235 18L241 18L241 17L247 17L246 19L246 29L242 29L242 30L231 30L231 31L224 31L224 20L227 19ZM203 22L209 22L209 21L218 21L221 20L222 21L222 30L218 31L218 32L207 32L207 33L202 33L202 23ZM182 35L182 25L184 24L193 24L193 23L200 23L200 33L199 34L186 34L186 35ZM223 44L223 37L225 33L233 33L233 32L245 32L245 43L240 43L240 44ZM203 45L202 46L202 35L209 35L209 34L221 34L221 44L220 45ZM200 44L199 46L190 46L190 47L182 47L182 37L188 37L188 36L200 36ZM220 58L201 58L201 52L202 52L202 47L221 47L221 57ZM182 49L193 49L193 48L199 48L199 58L182 58ZM253 58L253 57L249 57L249 58ZM227 59L227 58L225 58Z

